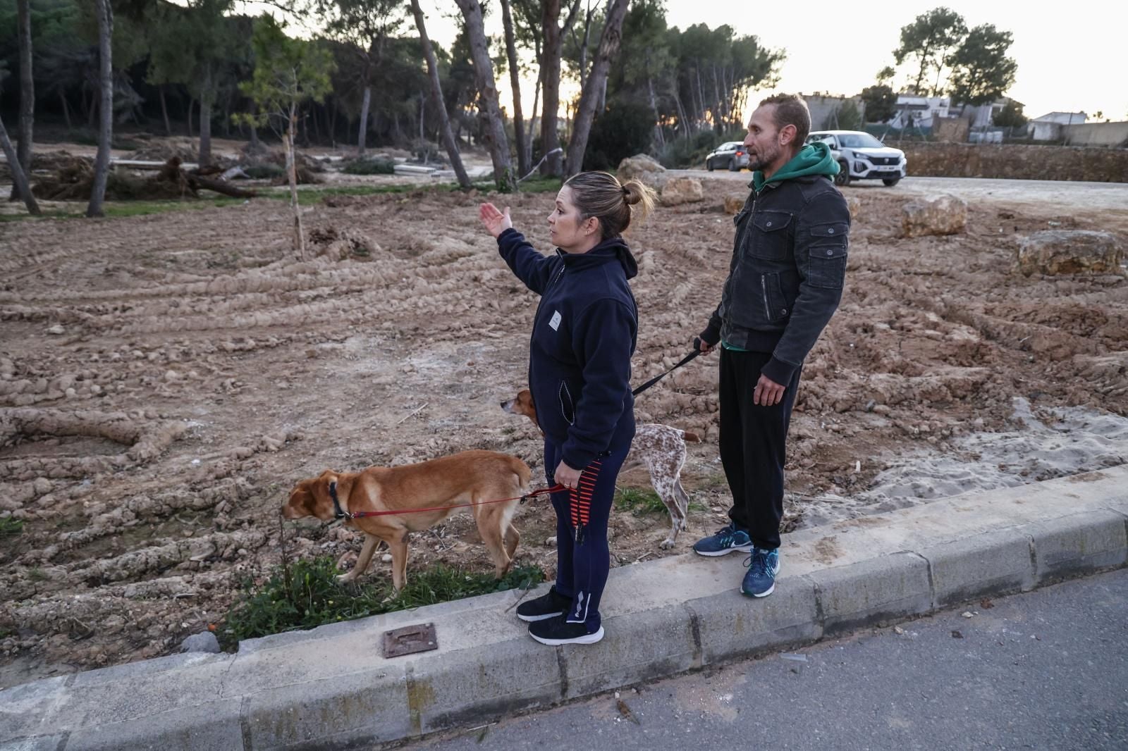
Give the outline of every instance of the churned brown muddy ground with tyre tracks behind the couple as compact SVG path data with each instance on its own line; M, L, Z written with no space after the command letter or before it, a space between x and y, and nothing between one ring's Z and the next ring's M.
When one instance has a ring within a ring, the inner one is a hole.
M637 382L687 352L720 295L732 239L720 196L740 186L702 178L708 200L660 209L631 238ZM1087 206L1081 189L1042 204L980 193L966 235L904 240L911 191L847 192L861 200L848 286L803 371L788 527L834 504L888 507L866 501L882 470L1014 431L1016 404L1041 424L1069 408L1128 416L1128 280L1011 270L1019 240L1050 226L1128 239L1128 209ZM305 221L323 255L306 262L281 201L0 224L0 515L24 521L0 537L0 686L176 651L243 577L279 563L279 506L326 467L477 448L543 472L532 425L499 408L523 386L536 298L478 226L481 200L317 202ZM548 249L550 194L495 200ZM723 523L716 364L698 359L638 398L640 421L705 436L684 470L695 506L668 551L663 515L615 512L613 565L684 553ZM645 474L620 485L645 487ZM550 575L550 509L534 503L517 524L518 562ZM287 533L301 555L359 549L337 524ZM440 560L491 568L467 515L411 550L408 576ZM379 559L369 572L388 574Z

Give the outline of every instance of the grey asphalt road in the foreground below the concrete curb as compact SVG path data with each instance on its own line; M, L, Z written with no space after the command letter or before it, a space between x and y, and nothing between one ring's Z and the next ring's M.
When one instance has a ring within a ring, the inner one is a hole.
M1128 569L405 748L1125 751Z

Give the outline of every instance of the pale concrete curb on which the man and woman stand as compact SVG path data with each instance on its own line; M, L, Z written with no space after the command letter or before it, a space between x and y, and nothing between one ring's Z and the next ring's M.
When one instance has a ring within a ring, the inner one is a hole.
M963 601L1128 564L1128 466L969 494L785 537L776 592L740 595L743 556L611 572L607 636L549 648L502 592L0 691L0 749L347 749L482 724ZM440 648L386 660L390 628Z

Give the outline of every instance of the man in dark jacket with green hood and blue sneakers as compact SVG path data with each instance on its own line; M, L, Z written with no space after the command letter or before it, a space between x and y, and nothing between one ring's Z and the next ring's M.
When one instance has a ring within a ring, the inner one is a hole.
M830 320L846 275L849 211L831 183L838 164L825 143L803 145L807 104L764 99L744 147L752 191L737 214L721 304L702 351L721 343L721 462L732 491L730 523L694 550L749 553L741 591L766 597L779 571L783 466L803 360Z

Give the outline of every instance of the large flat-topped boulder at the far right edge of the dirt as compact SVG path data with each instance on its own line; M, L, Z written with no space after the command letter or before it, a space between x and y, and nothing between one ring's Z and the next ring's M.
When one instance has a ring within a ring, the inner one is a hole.
M1110 232L1046 230L1024 238L1015 258L1031 274L1121 274L1123 248Z

